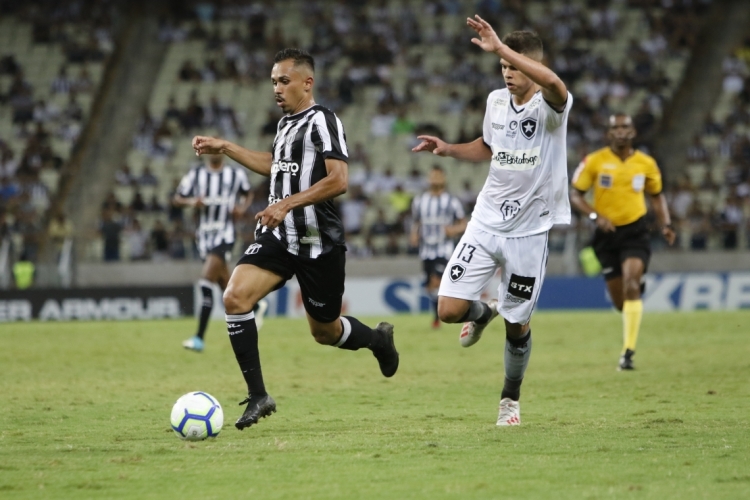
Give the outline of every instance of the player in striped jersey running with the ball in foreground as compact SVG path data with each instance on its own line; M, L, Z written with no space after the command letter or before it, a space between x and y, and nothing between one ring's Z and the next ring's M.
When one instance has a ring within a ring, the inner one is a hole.
M341 316L344 295L344 228L333 199L347 190L348 150L338 117L315 103L315 62L305 51L284 49L271 71L276 104L285 113L271 152L251 151L229 141L196 136L196 154L225 154L271 178L268 208L256 214L255 243L245 250L224 292L227 330L247 383L242 430L276 411L266 392L253 306L297 276L316 342L356 351L370 349L381 373L391 377L399 356L393 325L375 328Z

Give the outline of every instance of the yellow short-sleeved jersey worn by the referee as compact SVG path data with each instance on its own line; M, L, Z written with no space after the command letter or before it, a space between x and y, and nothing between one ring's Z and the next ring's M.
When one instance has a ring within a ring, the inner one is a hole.
M646 214L644 191L661 193L661 172L649 155L635 151L624 162L609 147L587 155L573 174L573 187L594 188L592 206L615 226L635 222Z

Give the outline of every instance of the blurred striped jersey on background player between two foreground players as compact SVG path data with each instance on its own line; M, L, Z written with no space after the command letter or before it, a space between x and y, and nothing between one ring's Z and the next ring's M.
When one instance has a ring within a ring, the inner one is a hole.
M450 258L456 244L445 235L445 228L464 217L461 200L445 191L439 195L427 191L414 198L412 218L419 223L419 257L422 260Z

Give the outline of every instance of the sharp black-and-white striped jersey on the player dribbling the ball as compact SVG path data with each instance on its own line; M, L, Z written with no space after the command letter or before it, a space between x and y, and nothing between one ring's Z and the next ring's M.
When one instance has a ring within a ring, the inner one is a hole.
M314 105L284 116L273 142L268 204L310 189L327 175L325 160L348 162L341 120L329 109ZM256 237L269 229L258 224ZM344 244L344 227L333 200L296 208L273 234L293 255L317 258Z

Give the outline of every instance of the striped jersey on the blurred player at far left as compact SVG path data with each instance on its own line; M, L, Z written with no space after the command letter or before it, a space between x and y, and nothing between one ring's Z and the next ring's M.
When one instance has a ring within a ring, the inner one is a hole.
M231 165L224 165L220 170L199 165L182 178L177 193L185 198L200 197L205 205L195 231L201 258L205 259L206 254L219 245L234 244L232 210L238 198L249 191L245 170Z

